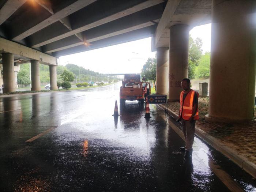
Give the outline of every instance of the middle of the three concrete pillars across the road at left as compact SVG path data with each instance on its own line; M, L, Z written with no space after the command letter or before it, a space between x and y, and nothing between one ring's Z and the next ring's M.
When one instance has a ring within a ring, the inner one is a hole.
M31 91L41 91L39 61L31 60Z

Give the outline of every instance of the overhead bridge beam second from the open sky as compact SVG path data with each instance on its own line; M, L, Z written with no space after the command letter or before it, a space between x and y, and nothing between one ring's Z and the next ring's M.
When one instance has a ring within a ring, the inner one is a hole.
M84 42L90 43L93 41L98 41L100 39L112 37L114 35L119 35L127 33L129 31L155 25L152 21L158 22L159 20L157 19L161 18L162 11L163 5L158 4L153 7L136 12L134 14L106 23L104 25L84 31L82 33L83 41L79 41L77 38L75 38L74 35L72 35L70 37L60 39L59 41L44 45L42 46L42 50L44 52L52 53L59 50L82 45L84 44Z

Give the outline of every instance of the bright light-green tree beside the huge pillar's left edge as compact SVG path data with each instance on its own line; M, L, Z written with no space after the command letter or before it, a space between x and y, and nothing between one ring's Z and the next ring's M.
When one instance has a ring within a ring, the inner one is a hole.
M206 52L199 60L199 64L196 67L197 78L209 78L210 76L210 52Z

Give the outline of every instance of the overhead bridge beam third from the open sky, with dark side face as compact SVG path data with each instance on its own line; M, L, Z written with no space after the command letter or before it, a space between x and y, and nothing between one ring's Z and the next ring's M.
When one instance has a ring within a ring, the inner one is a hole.
M58 23L53 23L45 29L31 35L28 40L31 46L40 47L162 2L163 0L96 1L75 14L70 15L72 31L54 30L56 29L55 25L58 25Z

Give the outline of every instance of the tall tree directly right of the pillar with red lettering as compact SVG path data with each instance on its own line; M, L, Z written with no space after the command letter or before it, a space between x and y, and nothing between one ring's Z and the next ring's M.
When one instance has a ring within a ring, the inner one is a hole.
M195 78L195 69L198 65L199 59L202 56L202 39L195 40L189 35L189 50L188 50L188 78Z

